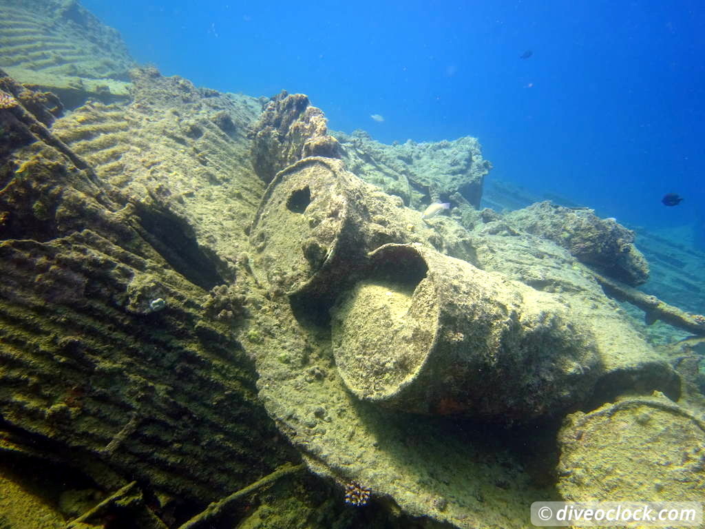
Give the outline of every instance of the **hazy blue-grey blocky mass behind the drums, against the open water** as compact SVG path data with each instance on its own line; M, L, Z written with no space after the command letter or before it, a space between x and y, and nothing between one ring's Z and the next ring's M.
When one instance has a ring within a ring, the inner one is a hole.
M423 211L431 202L448 199L454 206L467 202L480 207L484 177L492 164L482 157L477 138L384 145L362 130L352 135L336 132L336 138L349 171L401 197L409 207ZM453 200L455 193L463 202Z

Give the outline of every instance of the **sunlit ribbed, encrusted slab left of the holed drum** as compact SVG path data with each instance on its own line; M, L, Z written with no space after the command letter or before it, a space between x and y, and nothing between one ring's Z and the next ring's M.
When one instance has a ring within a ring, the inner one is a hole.
M233 275L264 191L252 178L246 140L259 104L197 90L154 68L133 71L131 91L130 104L91 102L54 132L137 204L145 224L157 230L150 243L176 269L212 288Z

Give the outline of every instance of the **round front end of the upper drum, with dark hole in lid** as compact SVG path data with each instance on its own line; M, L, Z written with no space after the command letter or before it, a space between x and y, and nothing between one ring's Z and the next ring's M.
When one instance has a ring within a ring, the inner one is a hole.
M336 274L347 273L341 262L351 252L364 254L357 241L359 187L336 159L309 157L280 171L250 230L258 279L295 294L327 289Z

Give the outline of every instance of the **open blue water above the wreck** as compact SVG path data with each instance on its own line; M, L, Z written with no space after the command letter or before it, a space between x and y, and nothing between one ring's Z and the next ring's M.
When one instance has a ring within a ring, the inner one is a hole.
M334 130L382 142L474 135L490 178L631 224L705 225L698 1L83 4L165 75L303 92Z

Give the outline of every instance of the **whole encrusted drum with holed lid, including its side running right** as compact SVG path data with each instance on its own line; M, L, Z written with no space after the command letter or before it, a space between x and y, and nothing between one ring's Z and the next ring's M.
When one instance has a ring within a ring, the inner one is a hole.
M307 157L279 171L266 188L250 226L253 271L272 291L332 303L367 253L387 243L472 258L462 238L447 234L441 238L418 212L346 171L341 160Z

